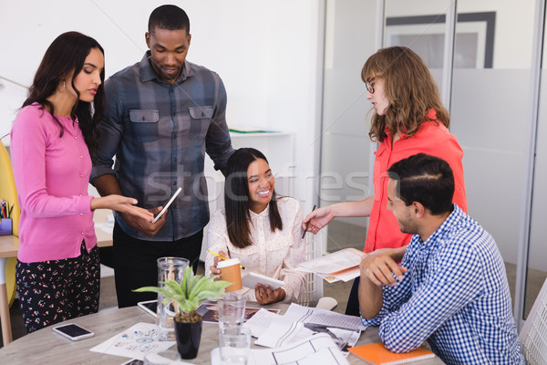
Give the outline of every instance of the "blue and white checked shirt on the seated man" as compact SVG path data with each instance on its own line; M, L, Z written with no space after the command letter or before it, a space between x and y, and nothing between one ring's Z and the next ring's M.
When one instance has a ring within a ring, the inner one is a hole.
M427 339L447 364L524 364L500 251L458 205L423 242L413 235L394 287L366 326L380 326L387 349L407 352Z

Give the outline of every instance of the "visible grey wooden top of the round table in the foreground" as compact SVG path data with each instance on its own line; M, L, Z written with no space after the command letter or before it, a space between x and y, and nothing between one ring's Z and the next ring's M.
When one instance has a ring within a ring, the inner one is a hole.
M286 304L275 304L269 308L280 308L283 313L288 306ZM66 363L119 365L129 359L101 354L89 351L89 349L130 328L136 323L154 323L154 321L155 318L138 307L109 309L89 316L70 319L67 322L74 322L84 328L88 328L95 333L95 337L73 342L53 333L51 327L42 328L21 339L16 339L11 344L0 349L0 363L10 365L57 365ZM378 342L379 340L377 328L366 328L366 331L361 333L361 338L358 340L357 346ZM218 346L218 325L216 323L203 323L198 357L185 361L192 364L210 364L211 350ZM254 345L252 346L254 347ZM176 349L176 347L176 345L173 345L171 349ZM347 360L350 364L364 364L363 360L357 359L352 355L349 355ZM435 358L423 360L417 362L417 364L433 365L443 364L443 362L439 358Z

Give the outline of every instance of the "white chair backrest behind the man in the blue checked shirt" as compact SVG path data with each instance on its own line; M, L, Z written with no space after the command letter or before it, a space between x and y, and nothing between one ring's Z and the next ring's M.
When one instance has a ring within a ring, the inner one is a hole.
M519 339L527 364L547 364L547 280L533 303Z

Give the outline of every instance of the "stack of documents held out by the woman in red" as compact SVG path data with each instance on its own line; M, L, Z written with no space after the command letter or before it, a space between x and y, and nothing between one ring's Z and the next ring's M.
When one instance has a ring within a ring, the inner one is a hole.
M356 248L344 248L332 254L317 257L313 260L298 264L297 270L314 273L323 277L327 282L349 281L359 276L359 264L366 256Z

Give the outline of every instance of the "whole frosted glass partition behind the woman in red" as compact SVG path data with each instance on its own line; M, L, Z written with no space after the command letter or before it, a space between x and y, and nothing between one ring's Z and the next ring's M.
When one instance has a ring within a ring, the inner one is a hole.
M384 17L377 20L376 6L381 4ZM547 262L543 258L547 245L542 235L542 218L547 216L547 193L542 189L547 186L547 85L540 83L534 172L528 176L524 167L530 130L536 123L531 113L535 108L531 68L537 33L536 1L514 4L510 0L457 2L453 73L444 82L451 83L450 130L464 150L469 213L500 247L513 302L522 207L529 203L524 201L527 198L523 192L533 179L530 243L524 243L530 244L523 308L526 318L547 277ZM326 5L322 205L356 200L371 193L367 190L370 106L359 72L366 57L376 51L377 34L383 32L384 47L402 45L414 49L426 60L439 89L443 88L442 68L447 64L443 59L444 45L449 41L445 36L448 2L327 0ZM543 80L545 58L542 57ZM365 220L341 221L366 228ZM329 235L334 226L329 224ZM356 230L346 229L340 234L353 231ZM364 235L364 231L359 233L361 245ZM341 242L348 239L353 238L344 237Z

